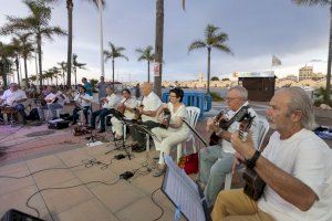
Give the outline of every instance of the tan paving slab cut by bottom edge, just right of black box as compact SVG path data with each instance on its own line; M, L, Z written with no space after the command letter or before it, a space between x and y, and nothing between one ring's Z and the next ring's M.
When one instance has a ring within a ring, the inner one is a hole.
M118 221L97 199L83 202L54 217L59 221Z

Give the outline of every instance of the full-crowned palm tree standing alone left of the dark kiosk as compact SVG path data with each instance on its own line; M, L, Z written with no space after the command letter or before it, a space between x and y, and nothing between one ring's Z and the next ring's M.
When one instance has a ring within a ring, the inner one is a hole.
M207 64L207 93L210 93L210 60L211 60L211 50L217 49L221 52L232 54L229 46L226 44L228 40L227 33L219 32L218 27L214 24L208 24L205 29L205 39L194 41L188 49L188 52L197 49L207 49L208 52L208 64Z

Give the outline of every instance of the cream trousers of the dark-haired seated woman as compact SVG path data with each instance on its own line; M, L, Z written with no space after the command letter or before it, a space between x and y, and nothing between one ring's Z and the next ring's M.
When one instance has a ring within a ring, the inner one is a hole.
M174 131L169 129L164 129L162 127L155 127L152 129L159 140L154 138L156 150L160 150L159 165L164 165L164 156L168 156L170 148L185 141L188 137L187 131Z

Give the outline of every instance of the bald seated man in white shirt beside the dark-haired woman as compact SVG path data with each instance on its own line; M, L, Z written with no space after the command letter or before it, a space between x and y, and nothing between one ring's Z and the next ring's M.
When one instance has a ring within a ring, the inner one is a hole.
M160 98L153 92L153 85L151 83L143 83L141 86L143 99L141 105L137 107L136 114L141 116L142 123L147 126L147 129L152 129L154 127L158 127L159 123L157 123L156 114L158 107L163 104ZM138 116L136 116L138 117ZM135 129L132 130L132 136L136 145L133 145L133 151L144 151L145 147L145 138L146 135L139 133ZM134 148L135 147L135 148Z

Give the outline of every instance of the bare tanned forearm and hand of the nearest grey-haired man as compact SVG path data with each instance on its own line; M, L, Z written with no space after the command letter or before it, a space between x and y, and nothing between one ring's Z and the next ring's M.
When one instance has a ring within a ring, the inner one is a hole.
M243 143L238 134L234 133L231 136L231 144L246 159L253 156L255 146L251 134L248 136L248 140ZM302 211L308 211L314 201L319 199L309 186L281 170L263 156L258 158L255 170L282 199Z

